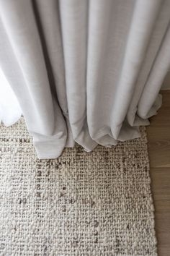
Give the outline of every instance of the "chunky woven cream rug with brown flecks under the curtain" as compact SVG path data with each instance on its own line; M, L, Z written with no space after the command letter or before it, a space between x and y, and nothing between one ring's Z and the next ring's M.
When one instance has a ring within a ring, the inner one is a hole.
M0 255L157 255L147 137L38 160L1 125Z

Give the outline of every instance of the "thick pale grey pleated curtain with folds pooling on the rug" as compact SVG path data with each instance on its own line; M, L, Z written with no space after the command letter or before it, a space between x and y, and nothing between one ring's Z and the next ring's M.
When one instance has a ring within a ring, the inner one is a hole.
M139 136L170 66L170 1L0 0L0 66L39 158Z

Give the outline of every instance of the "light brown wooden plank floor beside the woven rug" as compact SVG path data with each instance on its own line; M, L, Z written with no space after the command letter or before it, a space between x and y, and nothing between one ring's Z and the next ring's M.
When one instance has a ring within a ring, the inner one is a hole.
M150 119L147 133L158 255L170 256L170 90L161 94L163 105Z

